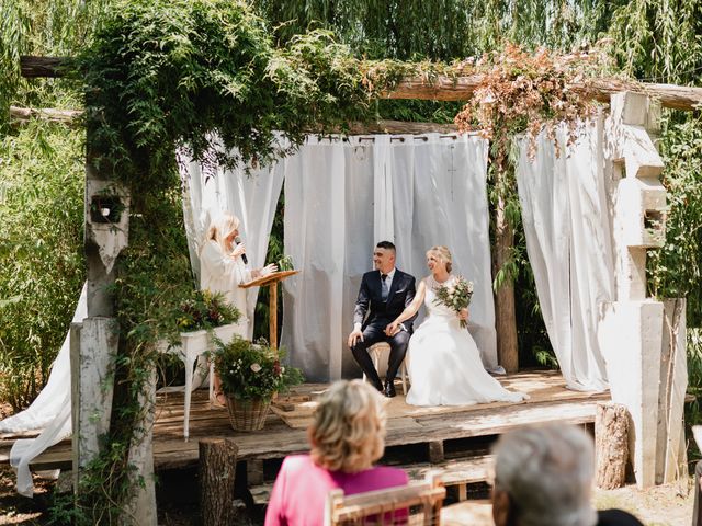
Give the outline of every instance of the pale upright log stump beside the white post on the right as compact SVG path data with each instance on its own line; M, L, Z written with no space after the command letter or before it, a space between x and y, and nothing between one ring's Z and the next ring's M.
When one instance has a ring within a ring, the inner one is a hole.
M624 485L629 459L629 413L620 403L600 402L595 413L595 482L613 490Z

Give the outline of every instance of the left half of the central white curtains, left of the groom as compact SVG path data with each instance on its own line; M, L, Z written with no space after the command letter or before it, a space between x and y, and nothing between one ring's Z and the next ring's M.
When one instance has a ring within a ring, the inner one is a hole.
M302 273L283 283L282 343L308 381L354 367L341 342L371 262L372 153L372 139L312 136L286 160L285 253Z

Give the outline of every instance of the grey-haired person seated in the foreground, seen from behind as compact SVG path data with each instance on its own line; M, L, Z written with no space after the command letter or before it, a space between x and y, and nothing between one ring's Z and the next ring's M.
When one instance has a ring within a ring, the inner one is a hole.
M503 435L494 454L496 526L642 525L621 510L592 507L592 439L578 427L523 427Z

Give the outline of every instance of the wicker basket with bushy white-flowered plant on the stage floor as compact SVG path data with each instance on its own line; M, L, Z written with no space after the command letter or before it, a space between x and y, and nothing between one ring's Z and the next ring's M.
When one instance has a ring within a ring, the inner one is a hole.
M303 381L299 369L281 364L282 355L264 340L252 343L235 335L229 343L217 342L215 369L236 431L263 428L273 395Z

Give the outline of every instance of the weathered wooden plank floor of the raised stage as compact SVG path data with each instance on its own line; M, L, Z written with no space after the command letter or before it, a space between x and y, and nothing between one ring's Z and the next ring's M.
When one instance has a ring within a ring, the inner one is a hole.
M453 438L497 435L526 424L562 422L584 424L595 421L595 408L609 393L587 395L565 388L562 376L555 371L526 371L500 377L509 388L529 391L532 399L522 403L473 405L465 409L451 408L442 413L431 410L412 411L401 409L388 411L387 446L421 444ZM306 384L297 393L313 397L326 386ZM545 395L537 396L535 393ZM398 393L398 397L401 395ZM396 405L404 408L398 399ZM416 414L417 413L417 414ZM239 458L282 458L308 449L304 427L291 428L279 415L271 412L262 431L235 433L225 409L211 409L205 390L193 393L190 441L184 442L182 393L159 395L156 424L154 427L154 464L157 470L192 466L197 462L197 441L203 437L228 436L239 446ZM0 462L9 461L12 437L0 439ZM34 469L70 468L70 441L49 448L32 464Z

